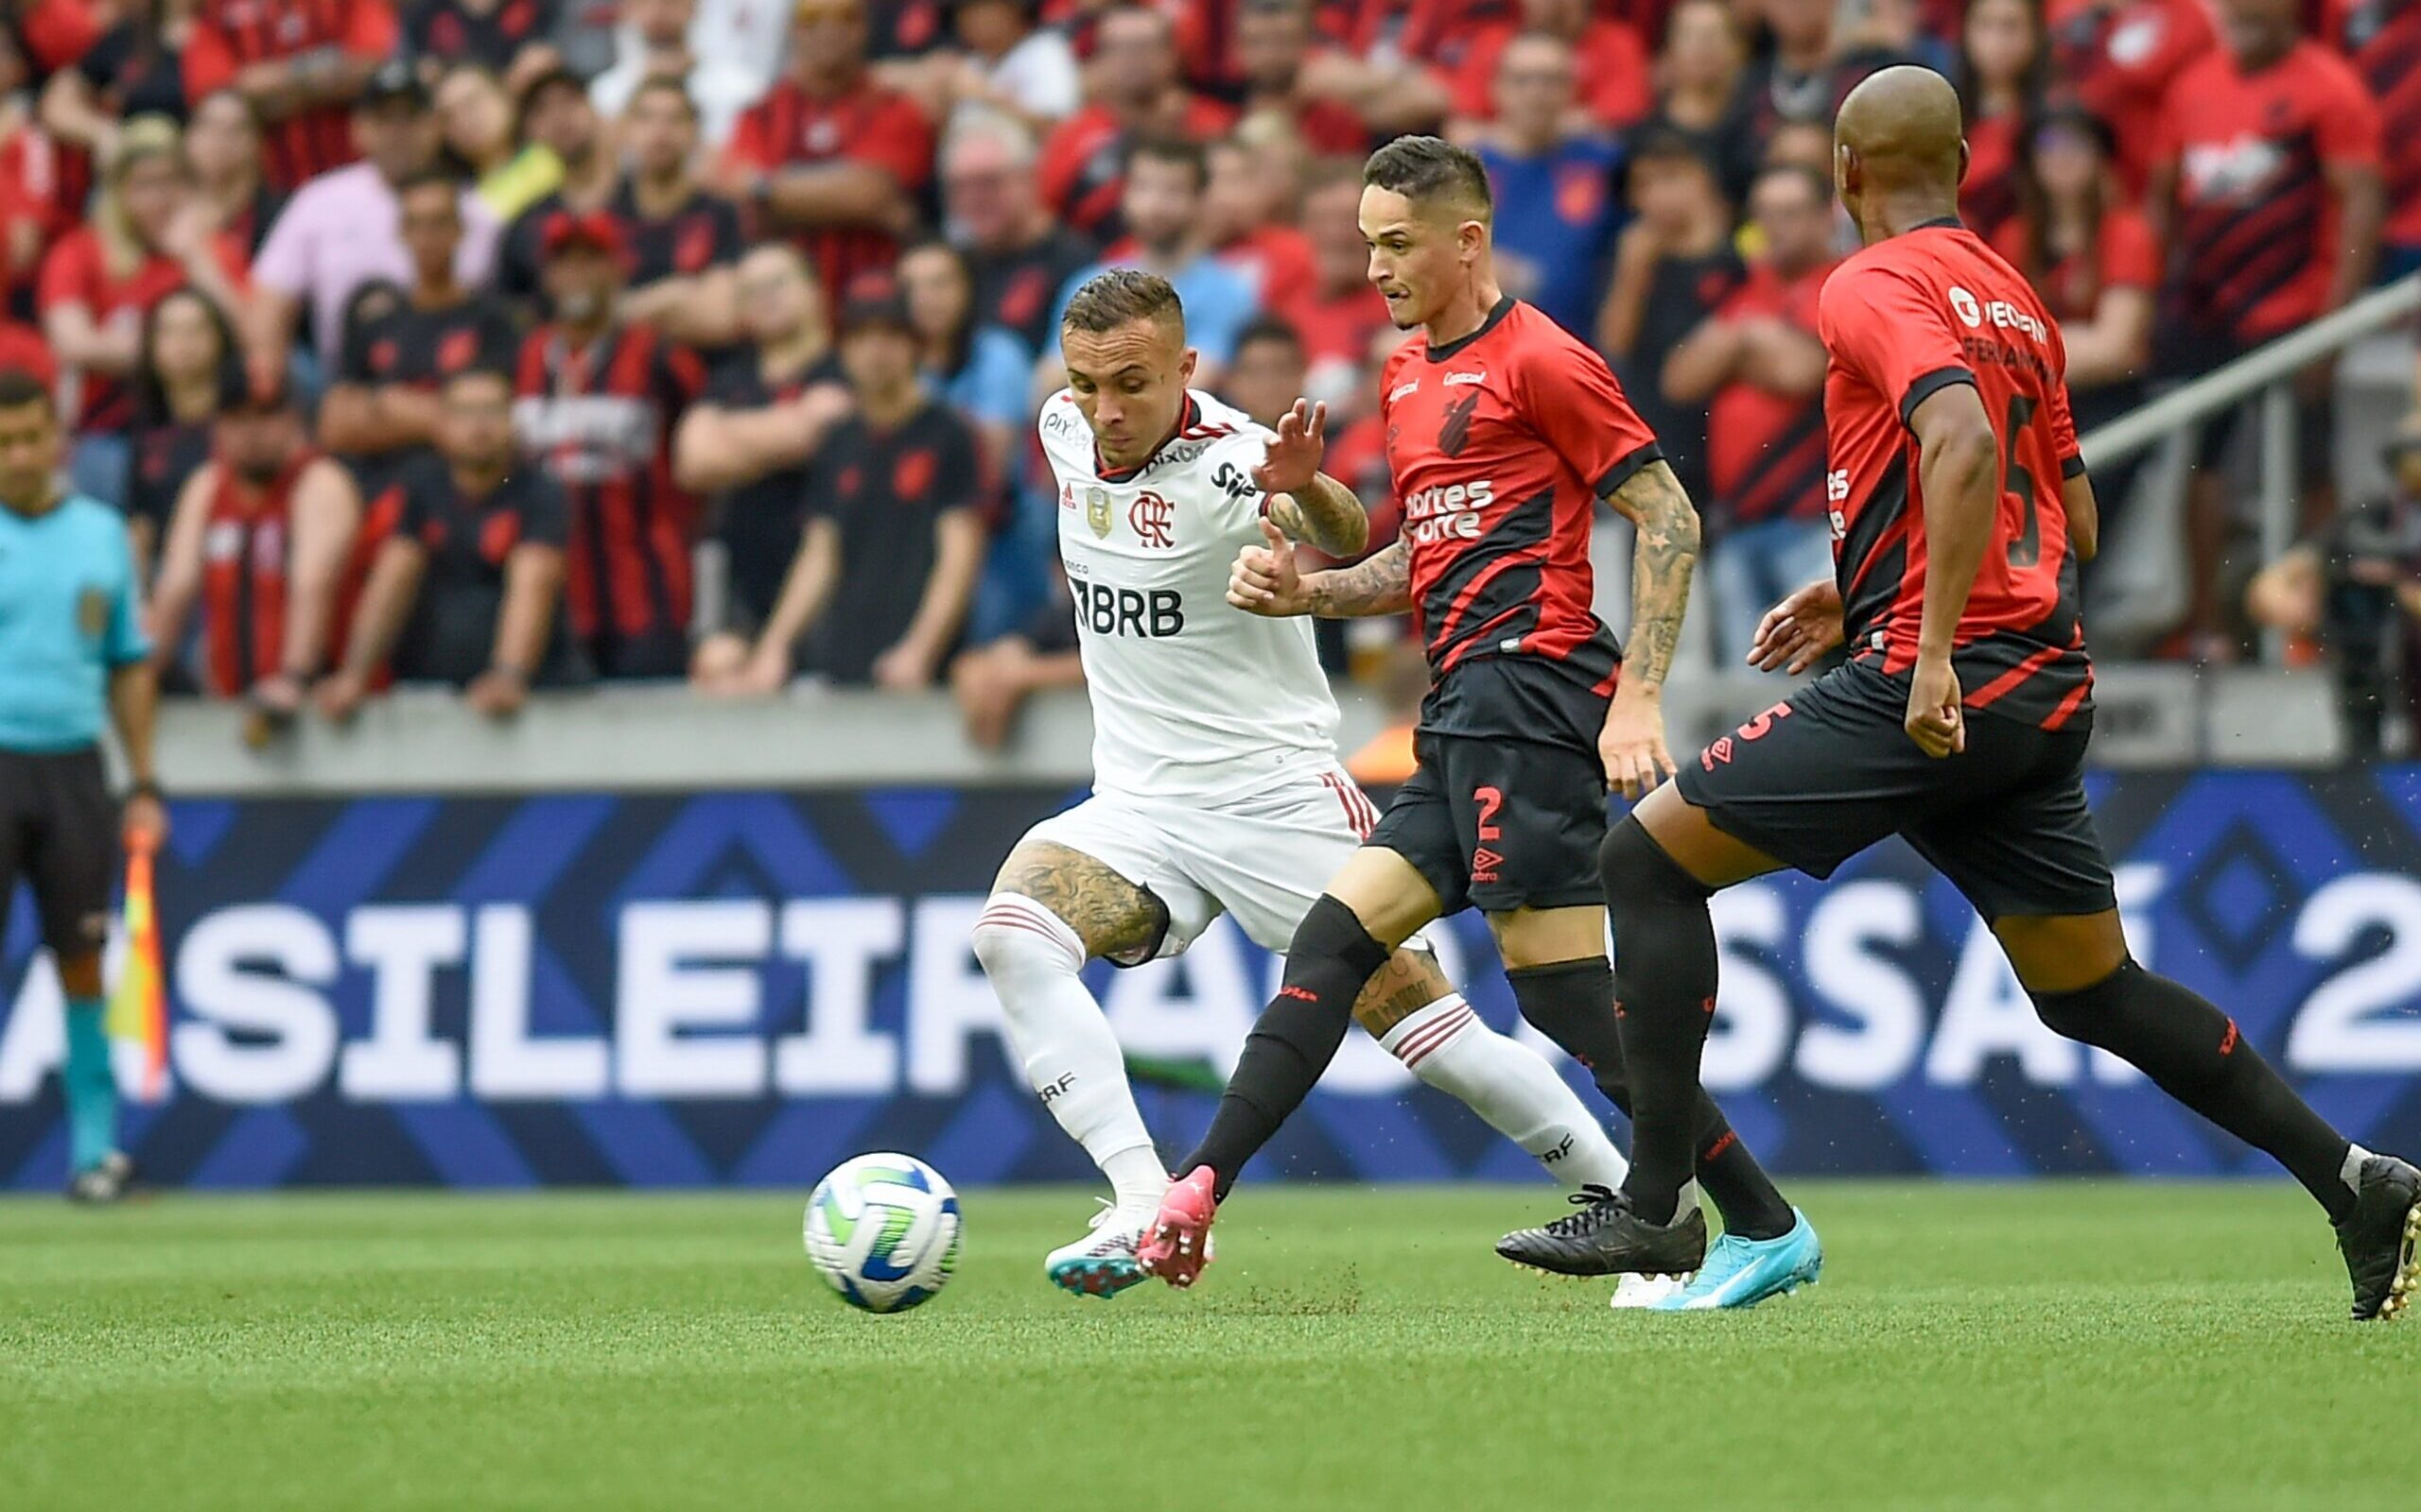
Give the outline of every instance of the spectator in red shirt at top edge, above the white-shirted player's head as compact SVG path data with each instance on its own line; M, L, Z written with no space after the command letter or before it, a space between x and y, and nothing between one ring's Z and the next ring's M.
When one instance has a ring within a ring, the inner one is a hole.
M1119 230L1126 150L1138 138L1208 140L1235 111L1194 94L1177 70L1177 34L1157 10L1119 5L1094 24L1092 102L1043 140L1043 203L1097 242Z

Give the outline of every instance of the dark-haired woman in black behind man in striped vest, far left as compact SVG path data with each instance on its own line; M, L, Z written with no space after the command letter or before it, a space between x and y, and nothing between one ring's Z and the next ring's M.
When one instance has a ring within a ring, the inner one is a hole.
M169 515L177 513L177 494L211 460L211 428L228 397L242 392L242 382L235 327L201 293L179 288L143 317L126 530L133 535L136 573L145 583Z

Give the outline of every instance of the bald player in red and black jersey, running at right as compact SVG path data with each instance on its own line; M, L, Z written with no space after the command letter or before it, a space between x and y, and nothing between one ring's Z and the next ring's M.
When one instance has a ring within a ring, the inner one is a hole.
M1765 617L1750 658L1850 658L1605 837L1634 1108L1605 1263L1678 1270L1702 1243L1678 1200L1716 994L1712 893L1784 866L1830 876L1903 835L1992 927L2046 1026L2276 1156L2336 1224L2353 1316L2392 1318L2421 1270L2421 1171L2348 1144L2227 1014L2128 958L2084 806L2075 564L2099 525L2068 353L2026 281L1956 220L1959 97L1932 70L1888 68L1842 102L1835 135L1840 203L1867 242L1818 310L1838 566ZM1738 1297L1804 1280L1789 1236L1709 1256L1709 1272Z

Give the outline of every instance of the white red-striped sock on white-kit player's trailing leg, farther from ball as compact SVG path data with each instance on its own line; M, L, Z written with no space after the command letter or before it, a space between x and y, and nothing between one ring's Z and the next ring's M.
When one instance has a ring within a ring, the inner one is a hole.
M1390 1028L1380 1048L1421 1081L1467 1103L1564 1185L1620 1188L1632 1168L1554 1067L1482 1023L1460 992Z

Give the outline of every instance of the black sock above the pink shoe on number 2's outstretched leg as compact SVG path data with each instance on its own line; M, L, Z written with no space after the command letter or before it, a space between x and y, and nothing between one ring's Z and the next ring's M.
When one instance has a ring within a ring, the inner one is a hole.
M1177 1166L1179 1176L1210 1166L1215 1195L1227 1198L1244 1161L1269 1144L1336 1060L1353 1023L1353 999L1387 965L1387 946L1370 939L1353 910L1324 893L1312 902L1286 948L1278 997L1269 999L1244 1035L1244 1055L1235 1062L1235 1077L1227 1077L1210 1132Z

